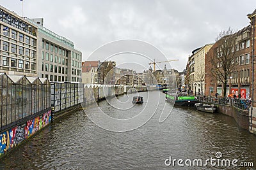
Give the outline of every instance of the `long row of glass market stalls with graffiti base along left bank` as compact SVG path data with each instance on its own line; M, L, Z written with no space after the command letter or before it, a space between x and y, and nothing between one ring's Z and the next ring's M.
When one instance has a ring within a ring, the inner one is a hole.
M156 87L86 85L0 73L0 157L33 136L55 117L132 92Z

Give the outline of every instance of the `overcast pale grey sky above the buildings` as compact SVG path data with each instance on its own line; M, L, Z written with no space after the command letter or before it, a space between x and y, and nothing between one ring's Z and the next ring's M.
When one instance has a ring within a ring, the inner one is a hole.
M21 16L21 1L0 2ZM168 60L179 59L172 67L182 71L191 52L214 43L221 30L249 25L246 15L255 8L255 0L24 0L23 17L44 18L44 27L73 41L83 60L92 59L94 50L111 41L138 39L156 46ZM127 54L115 58L117 64L125 59L134 60ZM136 62L148 61L137 57Z

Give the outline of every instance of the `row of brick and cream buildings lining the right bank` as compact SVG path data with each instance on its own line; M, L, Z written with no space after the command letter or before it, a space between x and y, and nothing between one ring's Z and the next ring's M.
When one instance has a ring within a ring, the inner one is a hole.
M213 66L214 62L211 59L217 59L218 49L220 49L220 41L216 43L204 45L193 50L189 56L187 64L186 84L190 92L195 95L215 96L217 93L221 97L236 96L250 99L252 101L252 109L249 113L250 131L256 132L256 88L255 83L255 16L256 10L248 14L250 24L243 29L234 32L236 56L232 64L236 64L230 74L227 75L227 85L223 84L216 75L212 73L212 69L221 67L220 65ZM223 36L222 38L224 38ZM232 50L233 51L233 50ZM227 61L228 62L228 61ZM218 64L218 63L217 63ZM225 88L224 88L225 86ZM224 89L227 89L224 93Z

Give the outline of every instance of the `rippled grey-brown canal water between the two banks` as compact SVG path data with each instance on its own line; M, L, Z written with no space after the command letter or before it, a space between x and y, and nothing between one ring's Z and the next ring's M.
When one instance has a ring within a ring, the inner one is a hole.
M160 97L152 98L148 94ZM74 111L56 119L0 159L0 169L246 169L221 166L217 161L222 159L237 159L237 165L253 162L256 166L256 136L240 129L233 118L193 108L172 110L161 92L141 92L140 96L145 98L142 105L130 107L131 95L125 95L102 101L99 107L114 118L129 118L142 110L156 110L141 127L127 132L107 131L88 118L87 115L97 111L95 108L88 107L85 113ZM116 100L122 104L126 101L127 109L116 109ZM159 123L164 104L172 112ZM170 164L170 157L172 161L182 159L186 164L182 167L176 161L175 166L166 166ZM216 159L216 165L207 162L207 166L193 166L195 159L201 159L203 164L207 159ZM187 166L189 160L191 167Z

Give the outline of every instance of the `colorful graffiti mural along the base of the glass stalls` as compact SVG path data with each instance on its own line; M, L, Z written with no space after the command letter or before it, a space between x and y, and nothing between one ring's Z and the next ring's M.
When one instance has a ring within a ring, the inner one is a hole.
M35 132L42 129L51 122L51 110L41 117L28 120L24 126L16 126L0 134L0 157L8 150L19 145L24 139L28 139Z

